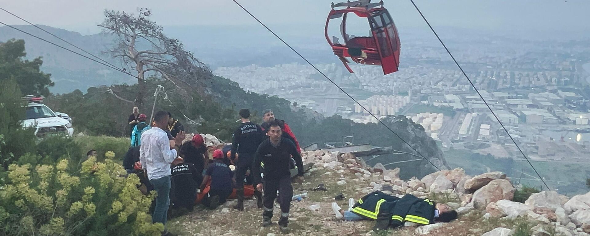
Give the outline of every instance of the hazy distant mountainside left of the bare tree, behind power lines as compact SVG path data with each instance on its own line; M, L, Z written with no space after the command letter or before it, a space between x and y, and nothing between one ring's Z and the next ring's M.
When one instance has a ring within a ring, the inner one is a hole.
M78 32L48 27L46 25L39 26L74 45L78 45L78 47L84 48L89 53L98 55L100 58L109 61L109 63L120 65L120 63L112 60L108 55L102 54L112 43L112 39L109 37L101 34L81 35ZM31 25L14 25L14 27L87 55ZM42 70L45 73L51 73L51 78L55 82L55 86L50 88L52 93L69 93L76 89L86 90L91 86L136 83L133 78L106 68L104 65L87 60L86 58L81 58L69 51L50 45L47 42L38 40L22 32L8 27L0 27L0 42L10 40L11 38L25 40L27 58L42 57ZM87 56L91 57L90 55Z

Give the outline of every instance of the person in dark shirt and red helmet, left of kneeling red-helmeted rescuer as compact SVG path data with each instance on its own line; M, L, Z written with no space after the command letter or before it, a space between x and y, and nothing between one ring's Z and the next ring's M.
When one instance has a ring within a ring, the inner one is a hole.
M205 148L205 144L203 143L203 137L198 133L195 133L195 136L192 136L190 142L183 143L181 145L180 153L184 162L192 163L195 166L195 170L199 173L198 184L201 184L203 171L205 166L207 166L207 158L205 158L205 153L207 153L207 148Z

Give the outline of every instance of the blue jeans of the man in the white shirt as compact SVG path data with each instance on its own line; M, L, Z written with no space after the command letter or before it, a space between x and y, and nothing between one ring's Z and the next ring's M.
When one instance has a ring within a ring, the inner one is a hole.
M170 177L164 176L159 179L150 179L153 189L158 193L156 196L156 208L153 210L152 223L160 222L166 227L168 207L170 206Z

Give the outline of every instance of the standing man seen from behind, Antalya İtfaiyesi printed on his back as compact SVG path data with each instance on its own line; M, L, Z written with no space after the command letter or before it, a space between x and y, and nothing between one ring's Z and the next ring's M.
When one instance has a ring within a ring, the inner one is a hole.
M264 140L262 129L258 124L250 122L250 110L241 109L240 117L242 124L234 132L234 139L231 142L230 159L235 163L235 194L238 198L238 204L234 209L244 211L244 176L248 169L251 169L254 161L254 153L260 143ZM236 155L237 153L237 155ZM251 172L251 171L250 171ZM256 204L262 208L262 193L254 191Z

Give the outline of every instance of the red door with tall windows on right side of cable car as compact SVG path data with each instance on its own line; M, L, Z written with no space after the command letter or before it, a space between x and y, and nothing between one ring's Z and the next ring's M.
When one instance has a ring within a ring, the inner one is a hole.
M399 38L397 30L388 12L383 9L371 13L371 31L377 41L383 74L398 71Z

